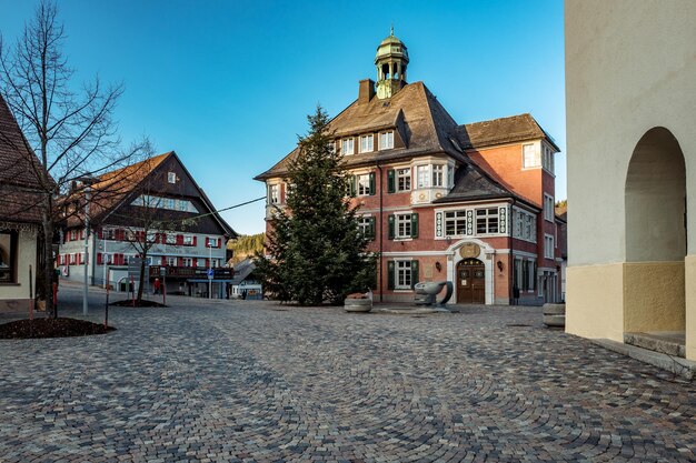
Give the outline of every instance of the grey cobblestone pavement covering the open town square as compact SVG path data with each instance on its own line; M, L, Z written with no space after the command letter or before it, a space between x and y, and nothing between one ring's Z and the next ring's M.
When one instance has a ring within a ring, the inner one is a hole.
M0 462L696 460L694 383L539 309L172 305L0 341Z

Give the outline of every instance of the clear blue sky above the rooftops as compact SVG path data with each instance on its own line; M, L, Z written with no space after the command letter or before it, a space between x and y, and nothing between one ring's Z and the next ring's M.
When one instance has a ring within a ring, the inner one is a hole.
M59 1L79 79L122 81L125 141L175 150L219 209L262 197L251 180L286 155L321 103L335 115L375 79L389 34L459 123L530 112L555 138L557 199L566 198L561 0ZM0 0L13 41L36 2ZM395 6L396 8L392 8ZM222 213L264 231L264 204Z

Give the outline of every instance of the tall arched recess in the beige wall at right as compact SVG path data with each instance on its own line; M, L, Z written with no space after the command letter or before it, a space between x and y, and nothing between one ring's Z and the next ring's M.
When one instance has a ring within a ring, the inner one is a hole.
M626 177L625 208L624 331L682 331L686 167L669 130L650 129L636 144Z

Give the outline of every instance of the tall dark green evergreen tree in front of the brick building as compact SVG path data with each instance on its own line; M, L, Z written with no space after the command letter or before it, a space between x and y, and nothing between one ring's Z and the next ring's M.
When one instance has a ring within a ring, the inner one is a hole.
M374 288L376 255L358 229L357 208L347 198L347 174L331 148L329 118L317 107L309 132L288 168L287 210L270 219L266 259L256 264L266 289L300 305L340 303L350 292Z

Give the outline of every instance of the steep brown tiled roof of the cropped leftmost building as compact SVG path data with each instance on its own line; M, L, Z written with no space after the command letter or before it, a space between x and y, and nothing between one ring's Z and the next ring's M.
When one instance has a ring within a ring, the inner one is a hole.
M37 205L50 189L41 188L40 177L46 172L12 112L0 95L0 220L11 222L41 221ZM49 181L50 177L48 177Z

